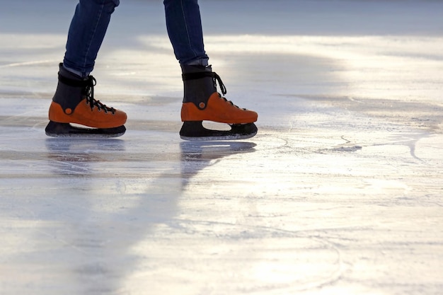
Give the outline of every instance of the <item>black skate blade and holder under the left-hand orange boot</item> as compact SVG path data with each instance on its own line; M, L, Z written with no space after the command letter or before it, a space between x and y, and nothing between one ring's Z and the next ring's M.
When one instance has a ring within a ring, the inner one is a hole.
M115 128L86 128L53 121L50 121L45 128L45 133L48 137L110 138L120 137L125 134L125 132L125 126Z

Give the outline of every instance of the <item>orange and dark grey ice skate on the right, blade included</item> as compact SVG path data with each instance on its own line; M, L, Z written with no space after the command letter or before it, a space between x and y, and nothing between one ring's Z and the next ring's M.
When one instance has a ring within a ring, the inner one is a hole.
M226 87L211 66L182 65L184 96L181 109L183 127L180 137L186 140L246 139L257 134L257 113L238 108L217 92L217 81L226 94ZM231 130L212 130L203 121L226 123Z

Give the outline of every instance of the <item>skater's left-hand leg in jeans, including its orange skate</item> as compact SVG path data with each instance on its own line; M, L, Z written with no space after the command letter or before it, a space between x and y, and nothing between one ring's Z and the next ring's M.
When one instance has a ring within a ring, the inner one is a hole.
M59 83L49 110L46 134L52 137L116 137L125 133L127 115L94 98L89 74L119 0L80 0L69 27L67 50L59 64ZM93 127L81 129L70 123Z

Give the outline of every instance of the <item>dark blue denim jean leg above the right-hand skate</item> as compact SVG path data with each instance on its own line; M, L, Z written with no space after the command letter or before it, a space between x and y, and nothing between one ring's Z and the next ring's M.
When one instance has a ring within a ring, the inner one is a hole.
M180 64L207 64L197 0L164 0L166 28Z

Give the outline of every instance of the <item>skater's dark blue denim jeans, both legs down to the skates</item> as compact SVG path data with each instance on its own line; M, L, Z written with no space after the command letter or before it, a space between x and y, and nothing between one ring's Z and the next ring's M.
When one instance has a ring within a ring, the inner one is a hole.
M198 0L164 0L166 28L180 64L207 64ZM94 67L110 16L120 0L79 0L63 64L81 76Z

